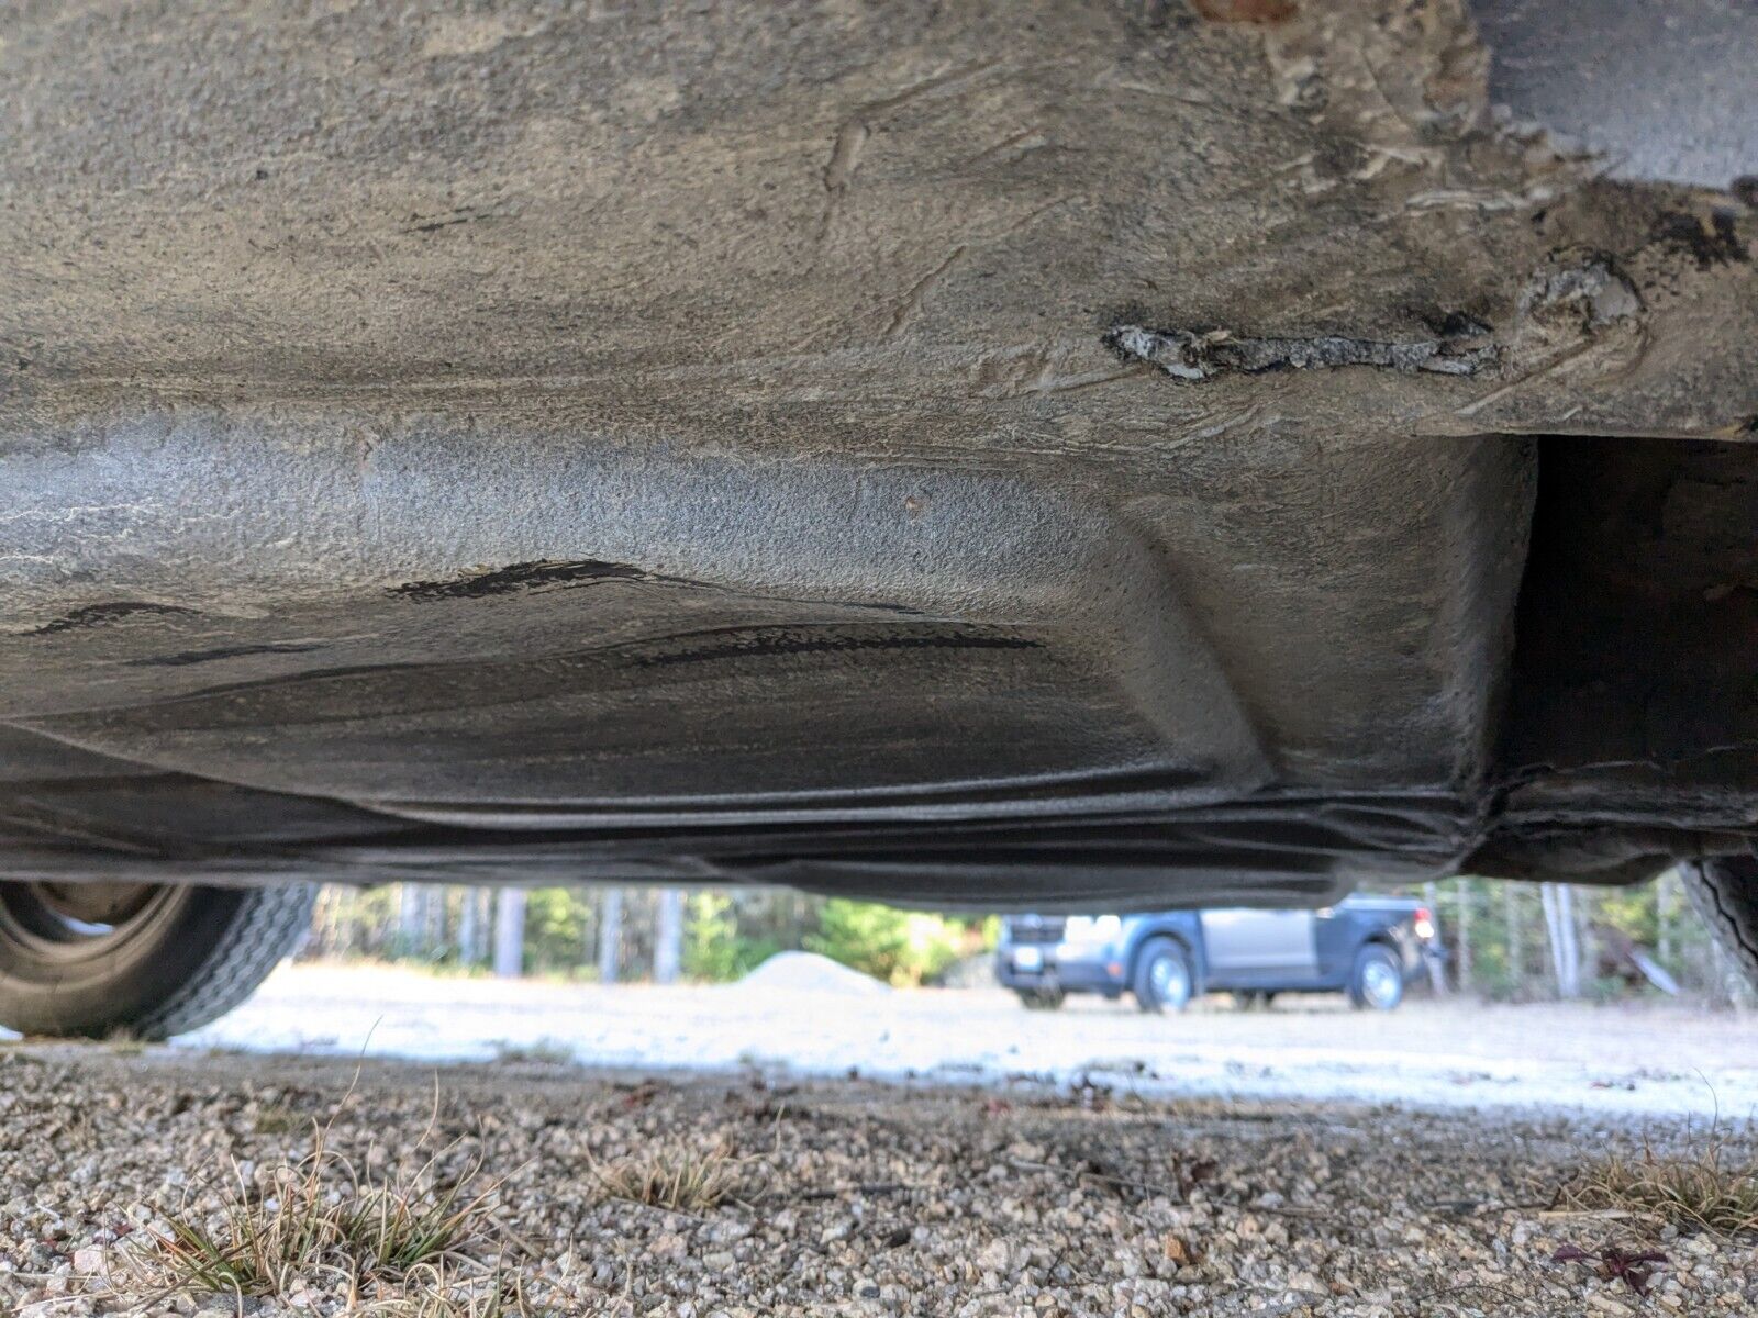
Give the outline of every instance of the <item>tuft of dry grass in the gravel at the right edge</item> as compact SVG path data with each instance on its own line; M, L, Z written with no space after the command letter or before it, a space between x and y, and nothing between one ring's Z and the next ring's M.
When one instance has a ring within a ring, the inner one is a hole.
M1730 1156L1718 1139L1684 1155L1610 1155L1558 1191L1570 1209L1621 1209L1688 1230L1758 1232L1758 1158Z

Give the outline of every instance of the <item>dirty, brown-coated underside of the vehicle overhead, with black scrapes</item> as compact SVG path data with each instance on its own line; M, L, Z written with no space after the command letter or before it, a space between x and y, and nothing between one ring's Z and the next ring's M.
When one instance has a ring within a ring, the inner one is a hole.
M0 18L0 875L1758 836L1753 193L1463 5L195 11Z

